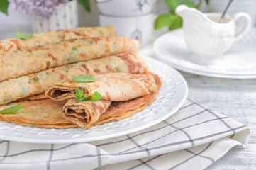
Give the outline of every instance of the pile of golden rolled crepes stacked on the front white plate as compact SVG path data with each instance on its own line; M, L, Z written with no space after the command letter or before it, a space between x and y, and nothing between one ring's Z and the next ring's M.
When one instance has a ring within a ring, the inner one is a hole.
M113 27L76 28L0 41L0 111L21 104L0 120L45 128L90 128L127 118L153 101L160 79L136 55L137 40ZM96 81L72 78L94 75ZM100 101L74 100L74 90ZM45 92L46 91L46 92ZM45 94L44 94L45 93Z

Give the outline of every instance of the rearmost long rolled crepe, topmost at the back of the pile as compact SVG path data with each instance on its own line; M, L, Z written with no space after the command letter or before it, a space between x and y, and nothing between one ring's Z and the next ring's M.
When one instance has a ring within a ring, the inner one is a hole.
M45 33L36 33L28 40L11 38L0 41L0 53L21 50L43 45L50 45L56 42L70 40L74 38L86 37L113 37L113 26L106 27L80 27L72 30L56 30Z

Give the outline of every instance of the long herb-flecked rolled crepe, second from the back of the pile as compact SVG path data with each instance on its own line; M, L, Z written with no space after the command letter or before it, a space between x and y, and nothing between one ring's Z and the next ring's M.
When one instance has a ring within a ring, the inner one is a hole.
M127 37L98 37L65 40L55 45L1 53L0 81L64 64L137 50L138 40L129 40Z

